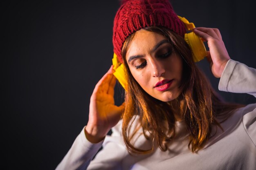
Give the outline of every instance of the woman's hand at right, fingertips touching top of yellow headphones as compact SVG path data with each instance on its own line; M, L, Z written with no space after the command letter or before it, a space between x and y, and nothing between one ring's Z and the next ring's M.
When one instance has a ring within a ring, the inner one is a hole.
M207 51L207 60L210 63L211 72L214 77L220 78L227 62L230 59L225 44L222 41L220 31L216 28L205 27L197 27L193 29L193 31L196 35L207 41L209 46L209 51Z

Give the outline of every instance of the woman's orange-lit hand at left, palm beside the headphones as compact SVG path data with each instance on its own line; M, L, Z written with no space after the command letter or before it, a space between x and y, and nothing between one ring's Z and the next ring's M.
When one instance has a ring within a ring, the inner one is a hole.
M85 127L85 136L92 143L98 143L107 135L109 130L121 119L124 104L116 106L114 87L116 78L113 66L96 84L90 98L89 120Z

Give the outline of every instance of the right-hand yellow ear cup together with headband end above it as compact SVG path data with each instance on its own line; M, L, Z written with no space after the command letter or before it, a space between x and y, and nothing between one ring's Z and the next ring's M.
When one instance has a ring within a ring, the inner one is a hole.
M193 28L195 28L195 25L193 22L189 22L184 17L178 16L178 18L184 23L188 31L191 31ZM204 57L207 56L204 42L194 32L186 33L184 35L184 39L189 44L192 50L194 62L199 62L200 60L204 59Z

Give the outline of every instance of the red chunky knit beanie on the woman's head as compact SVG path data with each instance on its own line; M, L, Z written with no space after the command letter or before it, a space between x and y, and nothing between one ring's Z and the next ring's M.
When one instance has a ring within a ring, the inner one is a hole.
M182 37L186 33L169 0L123 0L113 27L114 53L121 63L121 50L126 38L148 26L164 26Z

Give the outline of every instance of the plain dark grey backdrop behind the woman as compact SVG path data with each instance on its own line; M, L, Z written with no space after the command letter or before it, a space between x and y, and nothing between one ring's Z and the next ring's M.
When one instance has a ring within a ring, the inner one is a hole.
M195 26L216 27L232 59L256 68L250 0L172 0ZM117 0L1 2L2 145L5 169L53 170L88 121L90 95L111 65ZM198 65L218 89L202 60ZM120 86L115 98L121 104ZM220 92L230 102L247 94Z

